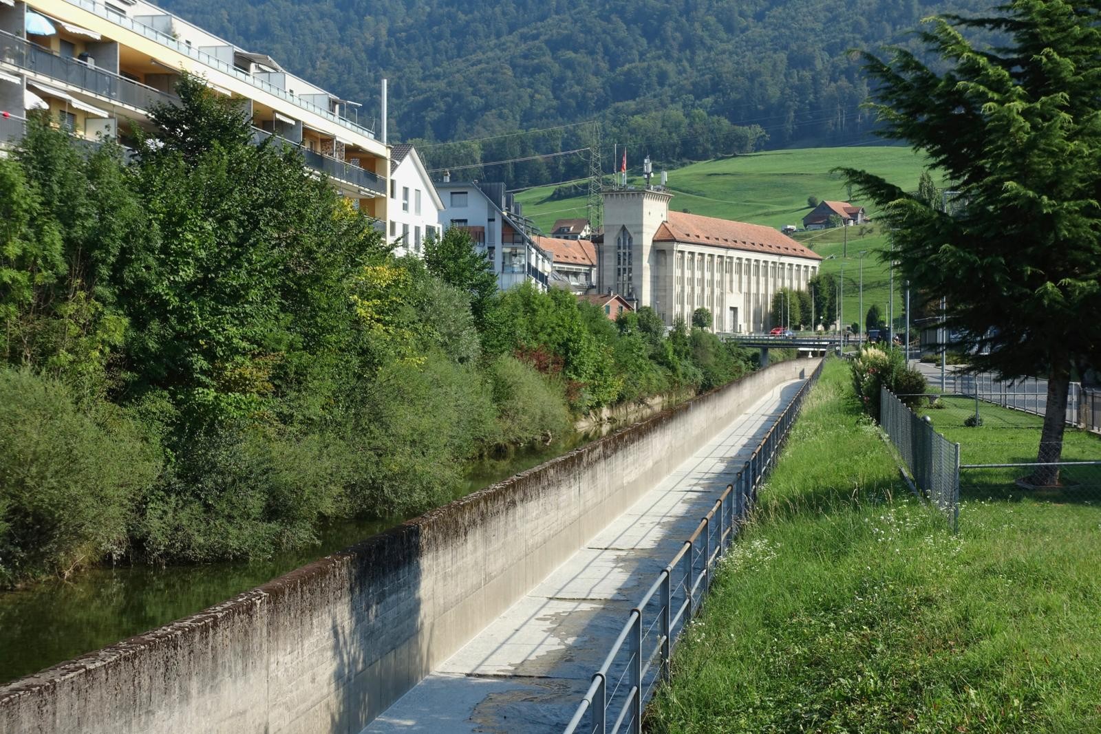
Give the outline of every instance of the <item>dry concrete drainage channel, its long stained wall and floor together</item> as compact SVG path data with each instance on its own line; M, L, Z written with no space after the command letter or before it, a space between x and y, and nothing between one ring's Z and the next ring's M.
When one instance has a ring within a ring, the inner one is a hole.
M600 666L601 648L619 632L620 615L630 613L676 545L635 558L630 549L654 548L672 526L668 539L689 535L693 518L722 494L729 468L740 465L730 457L750 456L767 430L763 414L771 426L814 366L798 360L748 374L204 612L2 686L0 732L356 734L384 728L383 712L399 708L399 699L415 703L414 689L430 688L422 682L460 686L476 700L473 711L419 706L416 715L435 716L419 731L535 731L517 727L515 714L542 693L548 702L534 704L545 724L538 728L560 732ZM754 408L762 396L773 396L763 413ZM766 437L767 450L753 454L750 475L760 476L780 440L776 431ZM677 473L693 457L699 486ZM658 485L671 489L634 512ZM707 534L696 534L690 560L682 560L693 565L689 573L709 572L753 486L755 480L737 496L732 490L722 511L710 514ZM684 512L674 517L674 506ZM611 537L607 528L620 516L630 529ZM548 581L578 555L598 560L587 566L590 573ZM674 604L684 601L682 588L706 588L676 583L679 576L671 577ZM612 603L600 601L609 599L606 589ZM694 611L697 605L694 599ZM566 618L571 607L581 614ZM611 612L607 627L586 621L598 607ZM536 624L517 620L520 632L509 644L468 666L478 673L454 669L460 650L479 653L469 643L481 631L510 610L528 609ZM648 624L657 618L643 614ZM556 631L544 633L554 624ZM603 642L570 648L578 635ZM510 658L517 648L523 654ZM528 651L534 664L524 662ZM520 662L513 667L512 659ZM574 672L549 680L556 660ZM439 669L444 675L434 672ZM513 669L522 680L500 675ZM393 716L389 725L415 728Z

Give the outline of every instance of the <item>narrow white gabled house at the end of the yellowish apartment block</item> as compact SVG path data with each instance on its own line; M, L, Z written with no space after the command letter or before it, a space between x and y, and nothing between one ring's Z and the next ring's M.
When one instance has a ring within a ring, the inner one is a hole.
M390 241L399 255L424 254L424 240L439 234L444 201L412 145L390 150Z

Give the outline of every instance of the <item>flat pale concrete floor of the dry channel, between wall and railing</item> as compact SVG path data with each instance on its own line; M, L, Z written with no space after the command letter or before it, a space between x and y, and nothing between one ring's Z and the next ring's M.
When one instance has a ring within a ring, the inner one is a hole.
M366 731L562 732L635 601L802 382L763 396Z

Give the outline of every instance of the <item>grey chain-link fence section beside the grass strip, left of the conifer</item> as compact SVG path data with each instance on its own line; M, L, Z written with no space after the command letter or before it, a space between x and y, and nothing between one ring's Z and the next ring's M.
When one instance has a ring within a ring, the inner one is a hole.
M886 387L880 388L880 426L898 449L917 489L948 517L952 532L959 522L960 446L933 429L933 424L903 405Z

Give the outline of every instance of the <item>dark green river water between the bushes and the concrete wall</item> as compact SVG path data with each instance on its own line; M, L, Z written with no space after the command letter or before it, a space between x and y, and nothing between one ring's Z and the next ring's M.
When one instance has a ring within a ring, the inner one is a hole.
M473 462L451 500L538 465L597 438L571 434L549 446ZM264 561L205 566L116 566L0 593L0 683L142 634L355 545L408 519L394 517L325 528L317 546Z

